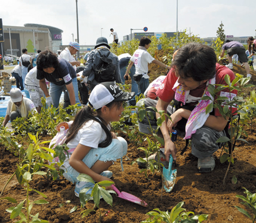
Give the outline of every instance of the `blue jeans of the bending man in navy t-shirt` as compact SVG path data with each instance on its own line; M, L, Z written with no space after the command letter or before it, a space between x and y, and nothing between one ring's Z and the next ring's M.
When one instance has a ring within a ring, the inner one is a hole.
M75 92L75 102L80 104L80 100L78 97L78 85L77 85L77 79L74 78L72 79L72 84L73 84L73 88L74 88L74 92ZM62 95L62 91L65 87L65 84L63 85L57 85L57 84L53 84L50 83L50 89L49 89L49 94L53 99L53 107L58 108L59 104L60 104L60 98Z

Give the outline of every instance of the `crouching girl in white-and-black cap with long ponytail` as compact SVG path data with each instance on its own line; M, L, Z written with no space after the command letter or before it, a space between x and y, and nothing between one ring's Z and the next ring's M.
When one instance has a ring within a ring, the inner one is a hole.
M112 181L110 177L113 173L105 170L126 155L128 144L125 139L110 132L110 122L119 121L124 111L123 102L134 95L134 92L123 92L115 82L97 84L89 97L88 106L76 114L65 140L69 147L69 160L66 158L61 167L65 171L64 177L75 183L76 196L83 188L94 186L78 181L80 173L91 176L96 182ZM111 186L106 189L111 189ZM90 191L92 189L87 193Z

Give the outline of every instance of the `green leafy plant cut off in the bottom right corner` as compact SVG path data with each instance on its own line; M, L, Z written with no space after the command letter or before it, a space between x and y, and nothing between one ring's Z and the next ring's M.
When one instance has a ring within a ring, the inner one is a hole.
M245 189L245 188L243 188ZM244 210L243 208L239 207L239 206L235 206L237 208L238 211L240 211L241 213L243 213L244 215L246 215L249 219L253 220L253 223L255 223L256 221L256 194L253 194L251 192L249 192L247 189L245 189L246 197L242 196L242 195L236 195L236 197L242 199L244 202L241 202L240 204L243 204L247 207L249 207L251 209L251 211L253 212L253 215L251 216L246 210Z

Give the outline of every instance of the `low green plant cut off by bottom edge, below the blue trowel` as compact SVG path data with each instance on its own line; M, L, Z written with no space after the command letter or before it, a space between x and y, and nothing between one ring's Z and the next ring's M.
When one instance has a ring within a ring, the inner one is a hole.
M150 211L147 215L150 216L146 221L141 223L201 223L207 220L208 215L194 215L194 212L186 212L182 208L184 201L178 203L169 211L160 211L158 208Z

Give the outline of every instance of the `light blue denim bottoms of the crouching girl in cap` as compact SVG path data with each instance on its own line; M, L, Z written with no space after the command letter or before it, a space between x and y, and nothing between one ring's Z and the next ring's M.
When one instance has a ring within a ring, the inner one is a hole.
M121 159L122 165L122 158L127 154L128 144L125 139L122 137L118 137L117 139L112 139L112 142L109 146L104 148L92 148L89 153L84 157L83 162L89 168L93 167L96 161L100 160L103 162L112 161L116 162L117 159ZM78 182L76 179L80 174L76 171L73 167L61 167L65 170L63 176L71 181L72 183ZM123 165L122 165L123 169Z

